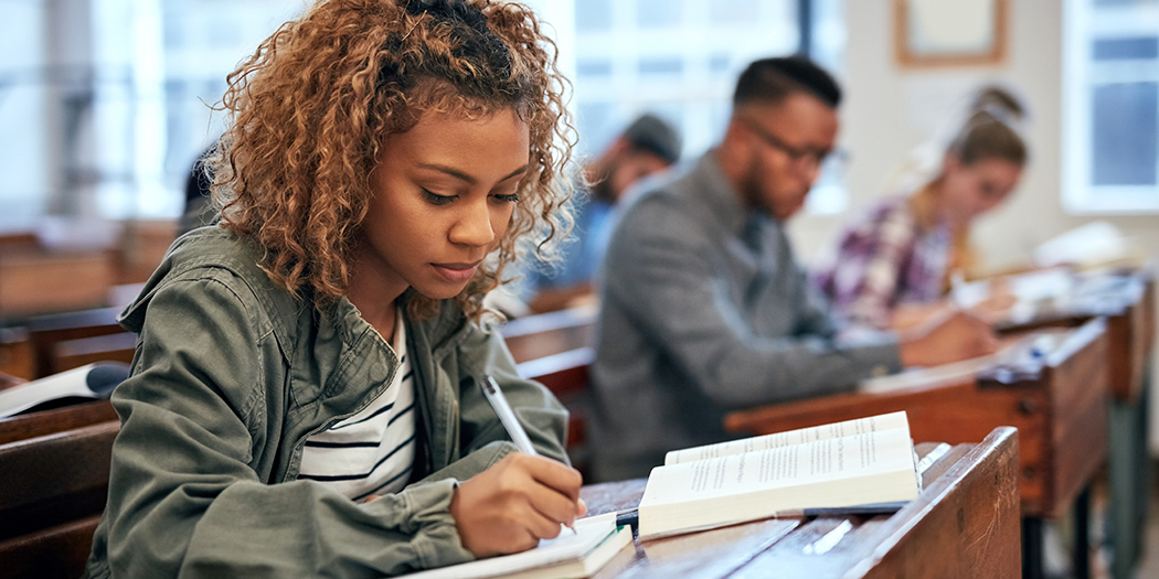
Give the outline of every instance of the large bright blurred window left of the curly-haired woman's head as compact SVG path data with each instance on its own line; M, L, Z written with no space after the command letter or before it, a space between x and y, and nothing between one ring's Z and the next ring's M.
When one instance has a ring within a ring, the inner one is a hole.
M0 227L175 218L226 74L301 0L0 2ZM59 8L59 7L58 7Z

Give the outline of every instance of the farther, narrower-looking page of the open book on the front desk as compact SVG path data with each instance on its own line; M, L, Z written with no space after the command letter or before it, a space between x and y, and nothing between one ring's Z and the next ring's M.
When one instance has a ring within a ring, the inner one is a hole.
M752 453L771 448L781 448L786 446L802 445L815 440L830 440L891 428L904 428L906 438L909 438L909 424L910 423L905 417L905 412L890 412L888 415L870 416L843 423L824 424L809 428L779 432L777 434L765 434L763 437L732 440L729 442L721 442L719 445L698 446L681 450L672 450L664 456L664 466L680 464L734 454Z

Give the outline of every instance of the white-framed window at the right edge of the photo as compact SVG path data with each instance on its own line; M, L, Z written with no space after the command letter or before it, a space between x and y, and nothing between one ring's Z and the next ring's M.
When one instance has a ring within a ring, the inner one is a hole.
M1067 0L1063 203L1159 212L1159 1Z

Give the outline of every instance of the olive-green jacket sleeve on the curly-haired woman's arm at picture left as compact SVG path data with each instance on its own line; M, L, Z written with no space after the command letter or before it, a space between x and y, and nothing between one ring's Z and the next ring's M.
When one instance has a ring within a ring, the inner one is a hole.
M132 378L114 394L112 577L381 577L469 560L451 479L356 504L312 481L268 484L258 336L228 287L184 283L150 303ZM292 444L292 441L283 441ZM92 570L90 570L92 572Z

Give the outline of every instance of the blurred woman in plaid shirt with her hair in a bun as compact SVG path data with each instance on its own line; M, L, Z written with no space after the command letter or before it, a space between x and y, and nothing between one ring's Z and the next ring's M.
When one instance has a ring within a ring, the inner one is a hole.
M836 237L810 276L834 312L888 329L912 327L943 307L955 272L976 269L970 223L1006 200L1022 176L1025 116L1009 91L981 89L932 176L880 200ZM982 313L989 305L1000 308L986 302Z

